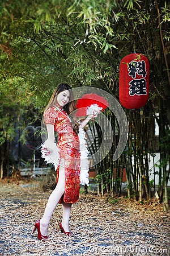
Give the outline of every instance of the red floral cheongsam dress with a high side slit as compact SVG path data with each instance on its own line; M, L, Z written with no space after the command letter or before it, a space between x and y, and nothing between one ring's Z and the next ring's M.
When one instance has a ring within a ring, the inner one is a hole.
M73 131L71 120L64 110L55 106L45 112L45 123L54 125L58 133L59 156L65 160L65 193L59 203L76 203L79 199L80 189L80 150L79 137ZM59 166L57 167L57 182Z

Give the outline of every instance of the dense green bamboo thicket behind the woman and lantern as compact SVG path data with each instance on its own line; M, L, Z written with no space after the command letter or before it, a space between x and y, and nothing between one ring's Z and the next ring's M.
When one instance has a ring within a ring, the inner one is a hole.
M150 61L150 97L140 110L126 110L129 131L124 154L112 162L111 152L96 166L98 192L121 195L122 172L128 196L141 202L155 198L168 209L169 180L169 4L139 0L2 0L0 151L1 177L18 168L20 155L10 151L28 125L40 126L46 103L60 82L74 88L94 86L118 100L119 65L131 52ZM106 113L113 129L117 120ZM155 135L155 123L159 135ZM100 129L91 123L91 129ZM95 147L94 147L95 150ZM19 151L18 151L19 152ZM150 179L149 163L160 159ZM158 188L155 175L159 175ZM152 195L151 189L154 188Z

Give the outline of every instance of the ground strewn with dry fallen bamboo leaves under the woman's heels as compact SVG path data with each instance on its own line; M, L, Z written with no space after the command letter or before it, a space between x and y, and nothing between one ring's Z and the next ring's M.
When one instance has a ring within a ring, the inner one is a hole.
M0 181L0 255L169 255L169 216L163 205L139 204L121 197L108 201L92 193L80 194L70 218L72 237L58 230L62 207L49 225L49 239L32 235L50 191L39 183Z

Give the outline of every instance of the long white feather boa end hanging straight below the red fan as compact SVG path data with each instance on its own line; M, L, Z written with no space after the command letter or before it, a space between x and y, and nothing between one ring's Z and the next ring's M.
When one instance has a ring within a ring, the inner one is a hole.
M80 142L80 184L88 185L88 171L89 171L89 161L88 161L88 150L86 143L85 132L82 128L79 128L79 142Z

